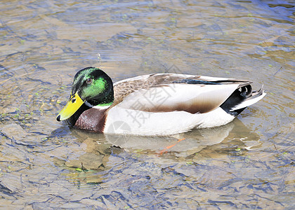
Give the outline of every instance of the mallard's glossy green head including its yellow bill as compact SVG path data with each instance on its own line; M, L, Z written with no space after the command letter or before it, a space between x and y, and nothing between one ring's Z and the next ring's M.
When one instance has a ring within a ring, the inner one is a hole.
M87 106L110 106L114 102L112 79L95 67L81 69L74 76L72 93L65 108L58 113L56 120L67 120L78 109Z

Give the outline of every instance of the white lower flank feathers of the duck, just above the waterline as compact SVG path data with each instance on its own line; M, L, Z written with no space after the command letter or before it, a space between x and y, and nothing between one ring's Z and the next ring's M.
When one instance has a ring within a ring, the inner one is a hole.
M107 114L105 134L169 135L193 128L216 127L230 123L235 117L218 108L209 113L174 111L151 113L115 106Z

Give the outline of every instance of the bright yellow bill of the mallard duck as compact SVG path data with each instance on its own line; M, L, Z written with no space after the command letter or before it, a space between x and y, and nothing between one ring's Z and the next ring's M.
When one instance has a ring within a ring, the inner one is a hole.
M67 105L65 105L62 111L58 113L56 120L67 120L80 108L80 106L82 106L82 104L84 104L84 102L85 101L83 101L76 92L71 96L69 102L67 102Z

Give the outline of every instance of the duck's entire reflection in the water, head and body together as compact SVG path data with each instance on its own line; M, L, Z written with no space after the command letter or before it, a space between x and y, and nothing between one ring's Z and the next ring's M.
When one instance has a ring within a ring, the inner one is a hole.
M224 160L235 148L261 147L259 135L251 132L238 119L222 127L192 130L171 137L105 135L81 130L71 132L77 137L79 146L72 148L70 154L74 155L68 155L65 165L86 170L67 176L74 182L84 180L86 183L100 183L103 180L100 172L112 169L113 161L116 165L124 163L129 156L133 160L134 155L145 155L141 157L148 162L166 164L188 160L206 162L212 158Z

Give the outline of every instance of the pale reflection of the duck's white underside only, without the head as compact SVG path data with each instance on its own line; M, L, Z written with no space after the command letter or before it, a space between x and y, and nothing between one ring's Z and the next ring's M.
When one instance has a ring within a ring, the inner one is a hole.
M105 135L107 141L127 151L153 151L162 155L168 152L196 152L206 146L219 144L232 130L232 123L212 129L192 130L184 134L169 137L137 137Z

